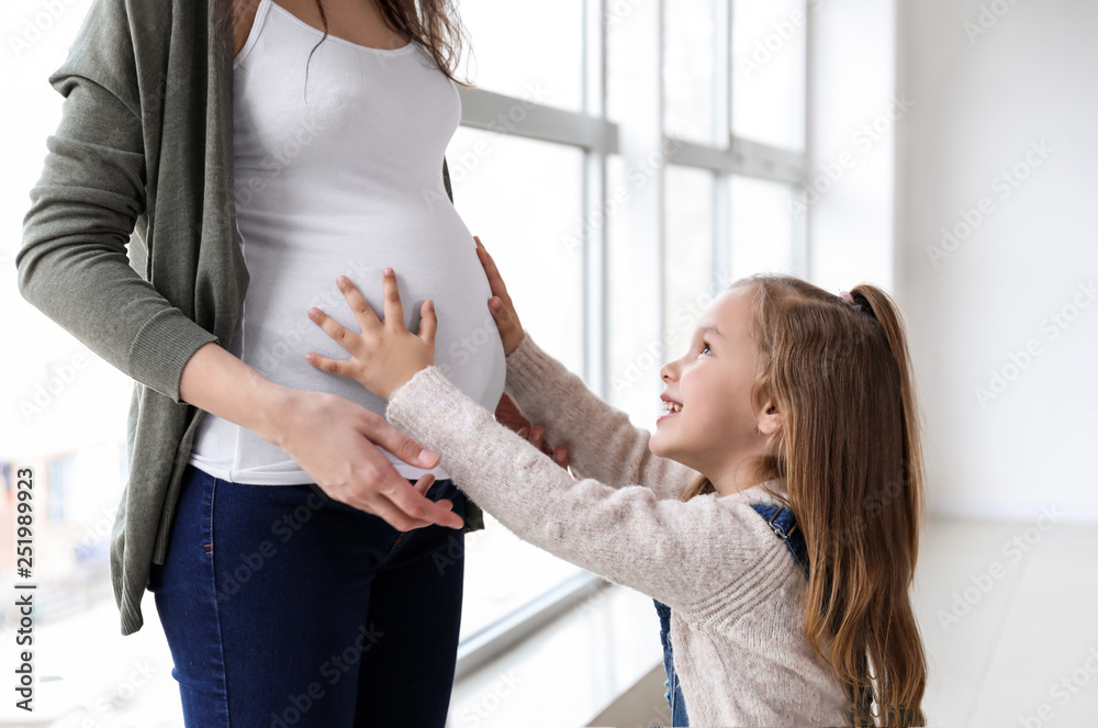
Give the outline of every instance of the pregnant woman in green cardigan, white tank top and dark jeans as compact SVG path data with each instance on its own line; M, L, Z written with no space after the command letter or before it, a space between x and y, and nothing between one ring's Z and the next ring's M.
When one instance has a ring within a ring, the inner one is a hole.
M445 723L479 512L384 400L296 352L338 356L304 312L348 270L380 309L392 267L445 311L440 368L504 413L491 289L439 168L451 14L97 0L49 78L65 105L20 291L135 380L112 579L123 634L155 593L188 726Z

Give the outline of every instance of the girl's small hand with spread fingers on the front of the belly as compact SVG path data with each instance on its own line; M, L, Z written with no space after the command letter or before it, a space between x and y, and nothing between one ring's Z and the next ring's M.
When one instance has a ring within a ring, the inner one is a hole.
M340 276L337 283L362 333L349 332L320 309L313 309L310 316L350 354L350 359L328 359L310 351L305 355L309 363L322 371L354 379L374 394L386 399L406 384L417 371L435 363L435 329L438 327L438 318L435 316L433 301L424 301L419 309L417 336L404 325L404 307L396 287L396 273L392 268L382 271L384 323L378 320L370 304L349 279Z

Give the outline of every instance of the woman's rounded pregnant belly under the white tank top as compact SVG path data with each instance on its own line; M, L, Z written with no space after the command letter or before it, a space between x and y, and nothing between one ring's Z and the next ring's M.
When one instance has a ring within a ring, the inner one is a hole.
M438 316L435 365L464 394L490 411L503 393L505 362L488 309L492 292L475 245L449 204L432 214L383 219L238 221L250 282L244 304L240 358L267 379L294 389L339 394L384 416L383 399L358 382L315 369L305 354L349 354L309 318L316 306L354 333L360 326L335 280L346 275L379 318L381 271L393 268L404 325L418 332L419 306L432 299ZM334 223L338 223L334 225ZM280 228L281 227L281 228ZM351 233L347 231L367 231Z

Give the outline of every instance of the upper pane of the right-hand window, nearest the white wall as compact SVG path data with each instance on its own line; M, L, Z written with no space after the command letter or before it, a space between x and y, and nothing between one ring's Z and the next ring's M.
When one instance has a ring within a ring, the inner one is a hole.
M805 147L805 0L732 0L732 133Z

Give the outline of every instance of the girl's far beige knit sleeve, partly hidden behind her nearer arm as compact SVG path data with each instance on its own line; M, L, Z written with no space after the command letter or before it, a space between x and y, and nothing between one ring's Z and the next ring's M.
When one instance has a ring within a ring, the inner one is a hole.
M546 441L567 445L582 477L619 488L649 488L658 499L676 499L698 472L648 449L651 434L587 389L527 333L507 355L505 391L530 422L545 426Z

